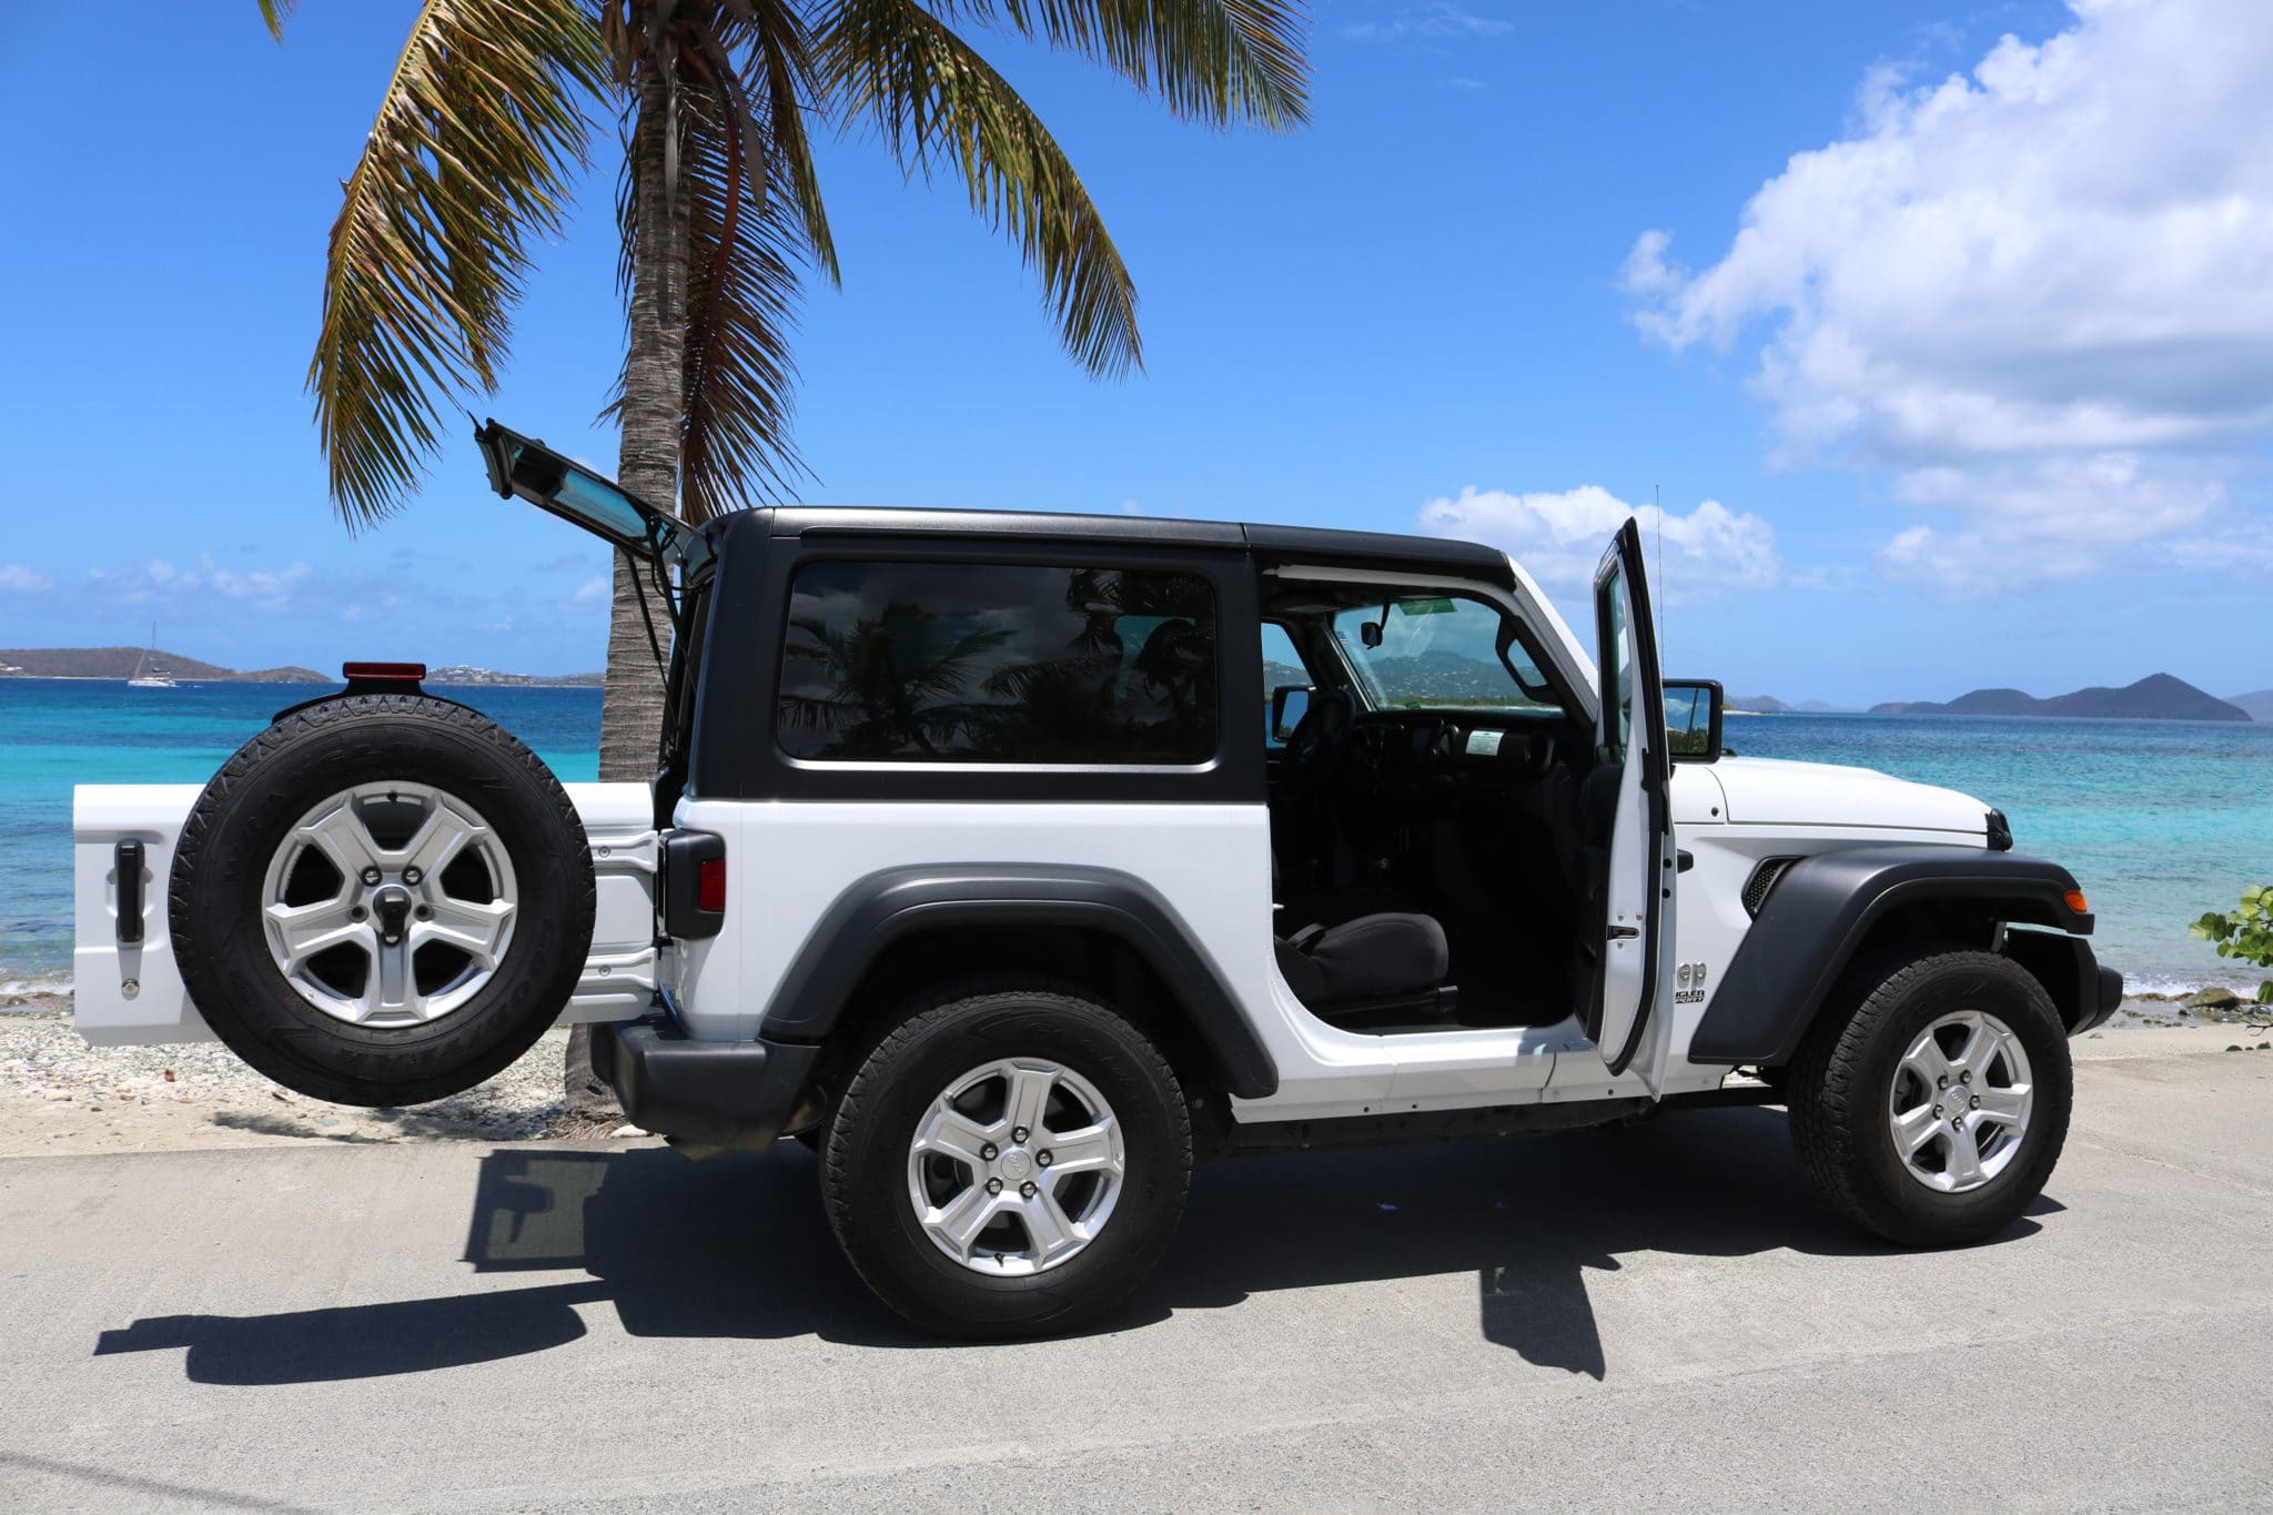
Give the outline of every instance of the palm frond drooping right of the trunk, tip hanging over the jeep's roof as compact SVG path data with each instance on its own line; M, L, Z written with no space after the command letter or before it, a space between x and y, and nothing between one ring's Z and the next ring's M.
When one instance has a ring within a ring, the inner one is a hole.
M830 100L875 125L900 166L961 175L971 209L1041 273L1077 363L1116 377L1143 366L1136 286L1073 164L1018 91L914 0L843 0L814 61Z

